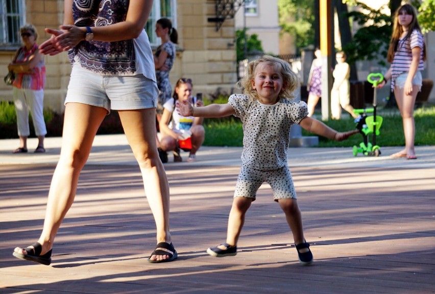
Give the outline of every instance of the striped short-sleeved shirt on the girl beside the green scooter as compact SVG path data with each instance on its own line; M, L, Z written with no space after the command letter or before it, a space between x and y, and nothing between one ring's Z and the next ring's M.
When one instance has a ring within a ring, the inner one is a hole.
M393 63L391 64L391 91L394 90L396 78L403 72L409 71L411 62L413 61L412 49L415 47L421 48L420 61L417 70L423 70L423 35L419 30L414 29L409 38L399 39L397 49L394 54Z

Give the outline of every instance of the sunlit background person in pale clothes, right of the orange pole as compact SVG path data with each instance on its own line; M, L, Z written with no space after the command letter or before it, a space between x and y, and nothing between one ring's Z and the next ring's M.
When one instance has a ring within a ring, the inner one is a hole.
M335 59L337 64L332 72L334 83L331 90L331 118L341 119L342 108L353 118L357 118L358 115L353 112L353 107L350 105L350 66L346 62L345 52L336 52Z

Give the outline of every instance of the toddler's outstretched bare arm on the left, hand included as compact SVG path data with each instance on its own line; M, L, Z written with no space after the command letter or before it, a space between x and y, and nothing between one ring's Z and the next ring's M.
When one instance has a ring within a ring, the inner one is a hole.
M182 116L195 117L224 117L235 115L235 111L231 104L210 104L203 107L194 107L188 101L177 101L176 111Z

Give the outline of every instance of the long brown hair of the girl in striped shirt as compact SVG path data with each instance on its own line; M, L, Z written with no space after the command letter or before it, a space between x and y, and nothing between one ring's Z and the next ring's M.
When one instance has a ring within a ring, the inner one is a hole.
M403 28L399 23L399 14L404 11L406 14L412 15L413 20L409 24L409 30L405 36L405 39L408 39L412 32L414 30L418 30L421 33L420 25L418 24L417 20L417 12L415 8L412 5L404 4L401 7L399 7L396 12L394 13L394 20L393 20L393 33L391 35L391 41L390 41L390 47L388 48L388 54L386 55L386 60L388 60L389 63L393 62L394 54L397 51L397 46L399 44L399 39L403 34ZM426 60L426 45L423 42L423 60Z

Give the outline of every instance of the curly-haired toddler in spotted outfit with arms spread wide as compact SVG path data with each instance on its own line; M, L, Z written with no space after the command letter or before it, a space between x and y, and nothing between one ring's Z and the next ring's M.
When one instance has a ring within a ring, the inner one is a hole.
M249 63L244 78L239 81L244 94L231 95L227 104L194 107L188 101L177 103L177 111L183 116L234 115L243 123L242 165L228 219L227 239L225 243L209 248L208 254L215 257L237 254L237 241L246 212L255 200L260 185L268 182L273 199L284 211L293 233L299 261L304 265L312 263L312 253L304 237L301 211L287 164L290 128L296 123L308 131L337 141L347 139L358 130L337 132L308 117L307 104L292 100L299 85L298 75L287 62L264 55Z

